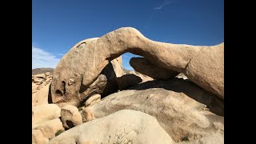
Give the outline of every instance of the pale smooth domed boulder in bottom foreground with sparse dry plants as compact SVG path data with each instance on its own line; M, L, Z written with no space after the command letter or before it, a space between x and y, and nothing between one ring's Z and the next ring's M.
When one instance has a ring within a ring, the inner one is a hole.
M136 110L120 110L83 123L53 138L58 143L174 143L156 118Z

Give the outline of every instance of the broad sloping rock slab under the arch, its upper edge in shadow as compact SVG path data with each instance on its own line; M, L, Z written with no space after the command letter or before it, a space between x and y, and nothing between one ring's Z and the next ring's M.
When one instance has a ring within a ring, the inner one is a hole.
M192 141L224 131L224 102L189 80L145 82L103 98L83 110L102 118L118 110L140 110L157 118L175 142ZM218 115L217 115L218 114ZM83 115L86 118L86 115Z

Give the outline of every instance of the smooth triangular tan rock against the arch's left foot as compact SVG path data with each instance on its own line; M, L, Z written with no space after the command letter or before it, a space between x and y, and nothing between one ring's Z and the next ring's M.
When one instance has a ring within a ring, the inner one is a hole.
M32 99L32 105L38 106L42 104L48 104L48 94L49 94L50 84L43 86L41 90Z

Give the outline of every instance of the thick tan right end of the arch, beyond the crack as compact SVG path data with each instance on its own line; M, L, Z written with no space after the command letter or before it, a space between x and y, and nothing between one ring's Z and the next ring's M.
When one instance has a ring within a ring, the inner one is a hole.
M186 66L190 80L224 99L224 43L198 53Z

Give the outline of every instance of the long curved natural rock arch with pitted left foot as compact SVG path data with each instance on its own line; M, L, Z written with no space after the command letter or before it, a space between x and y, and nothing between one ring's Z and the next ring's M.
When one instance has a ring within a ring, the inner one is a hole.
M92 93L91 85L97 81L103 68L126 52L141 55L147 62L162 69L182 72L198 86L224 99L223 51L224 43L218 46L190 46L155 42L134 28L120 28L101 38L78 42L62 57L54 70L51 86L53 102L70 102L77 106ZM204 67L194 70L200 66ZM201 77L198 76L200 74Z

